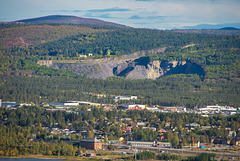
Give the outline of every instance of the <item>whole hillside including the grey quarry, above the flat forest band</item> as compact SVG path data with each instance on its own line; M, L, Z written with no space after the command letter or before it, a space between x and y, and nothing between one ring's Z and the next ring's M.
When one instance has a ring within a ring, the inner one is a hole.
M1 24L0 33L1 75L79 74L104 79L110 76L156 79L168 74L204 73L201 77L204 75L205 79L240 77L239 36L19 23ZM145 65L133 63L135 57L140 56L146 56L150 62ZM103 63L99 58L109 60ZM124 59L132 60L126 62ZM54 60L57 65L52 66L54 68L39 66L40 60ZM197 64L204 72L183 72L189 68L185 66L181 70L162 71L161 62L182 64L186 61ZM159 65L153 65L154 62ZM114 74L116 68L118 71L121 68L121 72ZM62 70L56 72L57 69Z

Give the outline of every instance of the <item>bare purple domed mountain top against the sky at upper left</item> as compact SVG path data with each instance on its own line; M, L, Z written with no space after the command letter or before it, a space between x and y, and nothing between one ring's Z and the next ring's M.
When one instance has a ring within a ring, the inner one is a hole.
M100 26L112 26L112 27L127 27L121 24L102 21L94 18L82 18L76 16L67 16L67 15L50 15L38 18L30 18L18 20L15 22L24 22L24 23L47 23L47 24L85 24L85 25L100 25Z

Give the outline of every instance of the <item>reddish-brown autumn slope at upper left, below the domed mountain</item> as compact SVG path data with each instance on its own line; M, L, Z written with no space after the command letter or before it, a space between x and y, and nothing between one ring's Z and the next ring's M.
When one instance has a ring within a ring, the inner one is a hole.
M107 30L70 25L20 25L0 29L0 46L7 48L35 46L72 35L105 31Z

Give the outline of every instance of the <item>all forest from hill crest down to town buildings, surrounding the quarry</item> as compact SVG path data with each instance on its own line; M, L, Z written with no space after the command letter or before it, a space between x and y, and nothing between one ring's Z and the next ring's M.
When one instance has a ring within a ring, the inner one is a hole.
M138 95L141 99L136 103L149 105L240 106L239 36L19 23L1 24L0 33L0 98L3 101L92 100L112 103L111 95ZM165 50L160 52L157 50L160 48ZM129 55L137 52L143 52L150 61L196 63L204 70L204 77L174 72L157 80L119 77L98 80L76 74L73 68L58 70L37 64L39 60L61 60L71 64L70 61L86 63L84 59L131 59ZM98 100L84 95L83 91L107 93L109 97Z

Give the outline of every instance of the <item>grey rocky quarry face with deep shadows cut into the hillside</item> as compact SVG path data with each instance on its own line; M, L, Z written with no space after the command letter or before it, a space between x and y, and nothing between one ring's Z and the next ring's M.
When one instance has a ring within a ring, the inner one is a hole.
M57 69L73 70L89 78L106 79L111 76L121 76L128 79L158 79L171 74L198 74L204 76L203 68L190 61L150 61L148 57L135 59L102 59L75 63L60 63L40 61Z

